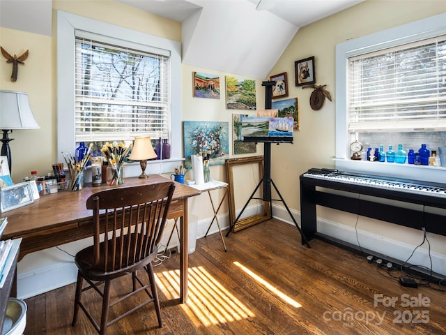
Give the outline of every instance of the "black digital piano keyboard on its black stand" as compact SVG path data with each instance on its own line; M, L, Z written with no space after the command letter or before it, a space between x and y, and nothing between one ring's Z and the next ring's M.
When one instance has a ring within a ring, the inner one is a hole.
M343 195L325 191L324 188L345 191ZM380 198L361 197L370 195ZM420 204L420 209L400 207L399 200ZM310 169L300 175L300 211L302 234L309 241L316 231L316 204L348 211L349 213L376 218L398 225L446 236L446 216L425 211L425 207L446 209L446 184L340 172L330 169Z

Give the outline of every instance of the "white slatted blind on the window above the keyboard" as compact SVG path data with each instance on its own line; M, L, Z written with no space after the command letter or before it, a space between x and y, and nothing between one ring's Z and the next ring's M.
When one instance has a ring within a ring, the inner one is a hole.
M446 36L347 63L350 133L446 130Z

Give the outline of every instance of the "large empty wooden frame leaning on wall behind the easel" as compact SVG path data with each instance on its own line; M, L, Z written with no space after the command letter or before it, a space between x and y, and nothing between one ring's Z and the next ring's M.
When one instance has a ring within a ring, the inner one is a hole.
M245 174L240 173L240 169L245 169L254 172L253 175L257 175L258 179L252 181L252 189L255 188L255 184L257 181L260 181L263 178L263 156L252 156L252 157L243 157L243 158L231 158L226 160L226 175L228 178L229 184L229 208L230 208L230 222L233 224L236 221L236 200L245 200L243 199L245 196L246 200L249 198L249 193L244 194L243 189L247 190L249 188L249 181L244 179L243 182L240 182L237 178L240 176L244 176ZM240 188L237 186L243 186ZM247 187L248 186L248 187ZM237 188L237 189L236 189ZM259 192L259 196L262 194L263 190L259 188L257 190ZM250 192L250 191L249 191ZM237 199L236 199L237 195ZM252 198L259 199L259 198ZM233 225L233 232L238 232L239 230L248 228L252 225L256 225L257 223L261 223L263 221L267 221L272 218L270 205L268 201L263 201L263 211L259 211L258 209L255 211L255 214L245 216L243 218L239 218L235 225Z

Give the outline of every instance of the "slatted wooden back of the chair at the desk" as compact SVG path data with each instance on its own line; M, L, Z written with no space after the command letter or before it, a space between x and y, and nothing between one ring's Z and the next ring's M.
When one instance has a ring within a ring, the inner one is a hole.
M117 271L155 253L174 189L174 182L168 181L91 195L86 207L93 209L92 267Z

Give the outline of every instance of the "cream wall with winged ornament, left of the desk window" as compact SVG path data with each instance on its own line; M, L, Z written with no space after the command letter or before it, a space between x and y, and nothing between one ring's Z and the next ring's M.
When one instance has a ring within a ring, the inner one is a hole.
M29 50L24 65L19 65L17 82L10 81L11 64L1 56L0 89L23 91L40 129L13 131L10 138L15 183L30 176L31 170L47 173L56 163L56 114L54 105L52 38L24 31L0 28L0 44L11 55L20 56Z

